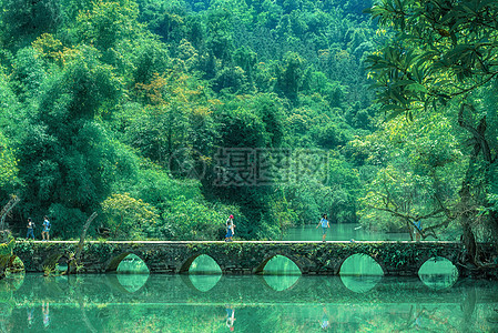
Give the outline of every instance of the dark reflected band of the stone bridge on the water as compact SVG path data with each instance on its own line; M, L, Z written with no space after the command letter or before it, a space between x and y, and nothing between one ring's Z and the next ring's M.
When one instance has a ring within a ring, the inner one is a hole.
M288 283L285 278L288 276L292 275L275 275L286 285ZM375 302L380 303L403 303L417 301L417 297L420 296L424 302L428 303L454 303L464 300L465 295L459 289L469 283L467 281L459 286L448 284L441 292L441 289L426 284L419 279L384 276L373 287L365 287L360 291L356 286L353 290L349 289L339 276L296 276L295 282L284 289L267 283L262 275L217 275L216 283L206 290L203 281L197 283L200 280L192 280L189 275L115 273L62 275L42 278L41 280L40 278L40 275L33 273L12 274L0 281L0 293L3 296L8 293L13 295L14 299L17 291L22 291L22 294L35 295L39 293L40 285L33 282L38 281L49 286L45 293L47 299L62 303L70 297L69 294L63 292L68 287L77 287L90 293L96 292L100 296L93 299L93 303L105 303L111 299L113 302L129 302L141 296L146 296L154 303L241 303L250 299L256 303L272 303L285 302L288 293L293 294L293 302L347 303L354 300L362 302L375 300ZM24 283L24 280L28 283ZM440 286L439 282L437 286ZM495 283L495 287L498 289L498 284ZM12 292L14 293L12 294ZM484 299L498 302L498 297ZM14 301L23 302L22 299Z

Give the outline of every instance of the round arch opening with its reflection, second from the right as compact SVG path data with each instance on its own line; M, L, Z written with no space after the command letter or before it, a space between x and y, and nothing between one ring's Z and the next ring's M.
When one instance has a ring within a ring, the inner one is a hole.
M384 271L369 255L358 253L347 258L341 265L341 281L355 293L365 293L380 282Z

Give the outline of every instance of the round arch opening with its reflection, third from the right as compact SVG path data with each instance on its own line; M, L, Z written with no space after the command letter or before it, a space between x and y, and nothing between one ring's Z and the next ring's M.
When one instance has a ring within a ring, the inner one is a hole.
M265 265L263 279L275 291L284 291L299 280L299 268L284 255L275 255Z

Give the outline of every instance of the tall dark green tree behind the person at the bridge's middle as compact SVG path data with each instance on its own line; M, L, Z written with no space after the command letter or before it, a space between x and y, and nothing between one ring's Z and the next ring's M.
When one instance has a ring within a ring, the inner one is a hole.
M283 137L282 111L278 103L268 95L244 97L220 104L214 113L217 124L214 160L209 164L203 180L204 193L212 200L223 200L241 206L246 220L237 224L243 228L244 238L257 238L264 228L270 228L270 195L272 184L257 184L255 173L256 158L260 153L278 152ZM265 150L268 149L268 150ZM225 154L233 155L226 159ZM265 220L267 219L267 220Z

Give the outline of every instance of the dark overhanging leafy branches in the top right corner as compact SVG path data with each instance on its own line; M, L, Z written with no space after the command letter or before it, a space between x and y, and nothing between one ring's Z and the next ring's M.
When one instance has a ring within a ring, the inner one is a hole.
M370 12L397 32L367 60L382 103L437 108L498 74L496 1L384 0Z

